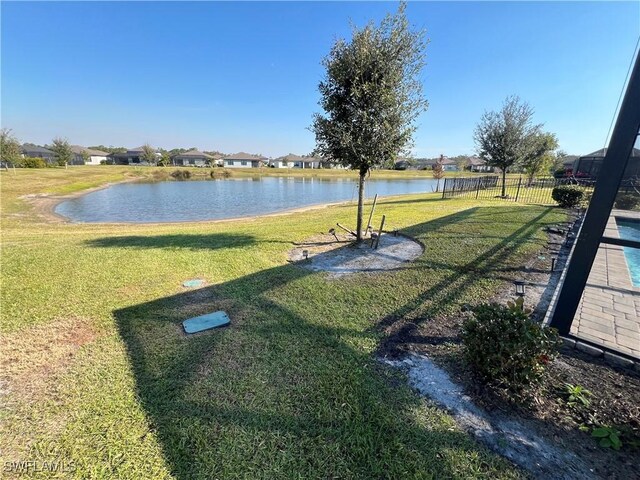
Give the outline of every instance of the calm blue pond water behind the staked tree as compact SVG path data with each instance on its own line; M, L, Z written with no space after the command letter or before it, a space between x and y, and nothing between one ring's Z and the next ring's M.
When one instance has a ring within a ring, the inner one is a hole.
M369 179L365 192L430 193L433 179ZM262 215L358 199L355 179L295 177L123 183L60 203L55 212L74 222L185 222Z

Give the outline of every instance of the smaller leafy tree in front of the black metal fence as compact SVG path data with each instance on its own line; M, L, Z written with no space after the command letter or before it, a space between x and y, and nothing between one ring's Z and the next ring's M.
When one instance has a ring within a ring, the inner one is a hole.
M533 108L516 95L507 97L498 112L485 112L476 126L478 156L502 171L502 196L506 197L507 171L522 162L535 145L542 125L533 123Z

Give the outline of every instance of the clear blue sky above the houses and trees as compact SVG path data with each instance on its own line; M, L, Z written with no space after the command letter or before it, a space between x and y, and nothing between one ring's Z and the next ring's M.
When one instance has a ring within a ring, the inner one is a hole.
M320 61L396 2L2 2L2 126L22 141L309 153ZM425 28L416 156L474 151L517 94L570 153L601 148L639 2L412 2Z

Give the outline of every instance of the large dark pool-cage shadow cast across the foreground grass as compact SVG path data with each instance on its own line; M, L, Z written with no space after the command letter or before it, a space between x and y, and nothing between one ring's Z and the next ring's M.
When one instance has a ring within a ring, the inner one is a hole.
M415 225L409 233L426 238L477 212ZM543 215L470 263L499 263L526 241ZM114 312L140 402L172 474L192 479L513 473L425 408L397 373L371 355L381 325L421 302L456 302L473 278L447 275L420 295L401 299L397 308L373 300L375 308L358 311L355 323L347 321L353 291L375 298L379 287L367 278L356 275L337 286L323 274L285 265ZM231 326L183 333L181 321L218 309L229 313ZM380 311L387 313L376 321L379 313L373 312Z

